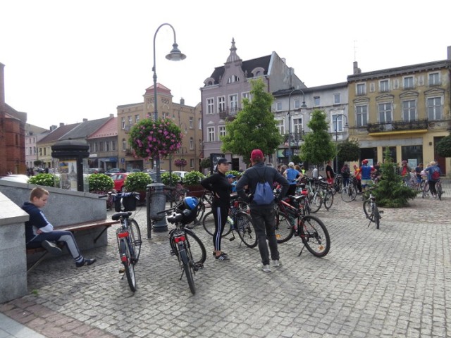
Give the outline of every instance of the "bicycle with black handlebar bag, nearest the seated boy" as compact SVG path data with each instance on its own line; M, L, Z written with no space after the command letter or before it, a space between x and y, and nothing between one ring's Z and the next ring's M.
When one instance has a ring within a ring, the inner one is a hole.
M113 196L114 210L116 213L111 215L112 220L119 220L121 226L116 230L116 239L118 243L119 257L123 264L123 273L127 277L128 286L132 292L136 291L135 265L138 263L141 252L141 231L137 221L132 217L132 211L136 210L137 200L140 199L139 192L123 192L114 194L109 192L100 197Z

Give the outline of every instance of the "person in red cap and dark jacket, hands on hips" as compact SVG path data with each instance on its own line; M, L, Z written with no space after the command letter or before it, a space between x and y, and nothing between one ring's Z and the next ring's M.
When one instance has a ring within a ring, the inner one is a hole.
M268 167L264 164L264 155L260 149L254 149L251 153L252 168L245 171L244 175L237 182L237 194L244 200L250 201L250 209L252 216L252 223L254 225L255 232L257 234L259 251L261 256L261 264L257 265L257 268L263 270L265 273L271 272L269 267L269 250L271 251L271 259L273 266L280 266L279 251L277 248L276 239L276 215L274 213L274 201L270 204L257 204L252 200L252 195L255 193L257 183L260 177L266 180L271 187L274 182L278 182L282 185L282 191L278 196L278 199L282 199L288 191L288 180L283 177L276 168ZM249 187L251 198L249 199L245 193L245 187ZM268 244L266 244L266 238L268 238Z

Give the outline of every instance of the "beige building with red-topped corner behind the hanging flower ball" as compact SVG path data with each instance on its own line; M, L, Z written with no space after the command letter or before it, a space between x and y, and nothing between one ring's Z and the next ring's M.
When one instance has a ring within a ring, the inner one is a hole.
M171 90L162 84L156 84L156 96L158 101L157 111L159 117L171 118L177 124L182 132L182 146L177 154L170 158L163 158L160 161L161 170L169 170L171 164L172 170L199 170L199 161L201 159L200 146L202 144L202 113L201 104L197 106L186 106L183 99L180 104L173 103ZM152 160L143 160L134 158L128 144L128 131L143 118L154 118L154 86L146 89L144 93L144 102L138 104L125 104L117 107L118 112L118 168L131 170L154 169L155 163ZM187 165L183 168L175 167L176 158L185 158Z

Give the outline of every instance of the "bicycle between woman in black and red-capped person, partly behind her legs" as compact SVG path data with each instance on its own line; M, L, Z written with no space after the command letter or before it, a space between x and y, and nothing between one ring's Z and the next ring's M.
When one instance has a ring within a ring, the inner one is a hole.
M254 225L252 225L252 218L248 214L249 208L247 203L242 201L238 196L233 196L230 201L230 215L232 217L228 217L227 223L229 225L228 229L224 229L221 237L226 237L230 232L232 232L232 236L229 241L235 240L236 231L238 236L246 246L249 248L254 248L257 246L257 236L255 236ZM215 224L214 224L214 215L213 211L209 211L205 214L202 225L207 234L214 236L215 232Z

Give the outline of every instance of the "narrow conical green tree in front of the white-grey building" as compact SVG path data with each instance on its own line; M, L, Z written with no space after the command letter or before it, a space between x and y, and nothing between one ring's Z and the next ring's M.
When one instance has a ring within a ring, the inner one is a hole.
M302 161L317 165L329 161L335 156L336 147L328 133L326 114L323 111L313 111L307 126L311 132L304 136L304 144L301 146Z

